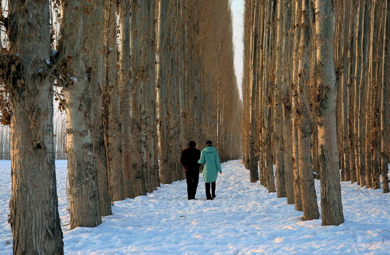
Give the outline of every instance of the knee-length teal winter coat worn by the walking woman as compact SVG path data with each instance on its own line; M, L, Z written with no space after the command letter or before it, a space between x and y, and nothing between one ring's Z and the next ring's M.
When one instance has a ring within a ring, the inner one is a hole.
M204 182L214 182L218 172L222 173L220 156L214 146L206 146L200 153L198 164L203 164Z

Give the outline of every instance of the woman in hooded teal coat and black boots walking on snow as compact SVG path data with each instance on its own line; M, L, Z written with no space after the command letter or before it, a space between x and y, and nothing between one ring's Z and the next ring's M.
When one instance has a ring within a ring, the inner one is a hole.
M202 152L200 153L200 159L198 164L203 164L203 178L206 186L206 198L207 200L213 200L215 198L215 181L217 180L218 172L222 173L220 156L217 149L212 145L211 141L207 141ZM211 195L210 195L211 184Z

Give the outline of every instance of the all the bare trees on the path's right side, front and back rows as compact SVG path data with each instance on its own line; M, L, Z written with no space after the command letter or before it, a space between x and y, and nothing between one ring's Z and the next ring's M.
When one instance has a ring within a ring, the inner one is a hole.
M314 178L322 225L344 222L340 181L389 192L389 8L246 0L244 164L303 220L319 218Z

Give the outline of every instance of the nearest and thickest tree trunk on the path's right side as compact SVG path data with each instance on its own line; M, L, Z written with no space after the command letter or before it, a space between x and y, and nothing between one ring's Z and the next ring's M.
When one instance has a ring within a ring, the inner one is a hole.
M333 60L333 6L331 0L317 0L316 43L318 96L318 140L321 164L322 225L344 222L341 205L340 174L337 158L335 118L335 73Z

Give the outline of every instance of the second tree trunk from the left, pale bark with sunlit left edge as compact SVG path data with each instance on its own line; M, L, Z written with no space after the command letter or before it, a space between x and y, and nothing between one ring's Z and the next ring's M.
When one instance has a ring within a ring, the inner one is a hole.
M84 8L87 10L84 13ZM92 107L86 69L85 30L89 24L86 13L91 5L75 0L64 2L63 55L67 61L64 87L67 117L67 151L70 228L95 227L102 222L99 211L97 171L93 161L91 140ZM76 24L76 25L75 25Z

